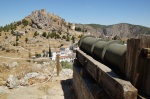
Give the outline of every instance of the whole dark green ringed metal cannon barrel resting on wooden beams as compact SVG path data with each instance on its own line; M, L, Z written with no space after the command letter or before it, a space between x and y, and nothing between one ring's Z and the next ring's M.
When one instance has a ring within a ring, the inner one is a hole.
M79 48L93 58L116 67L124 73L126 45L119 41L106 41L94 36L85 36L79 41Z

